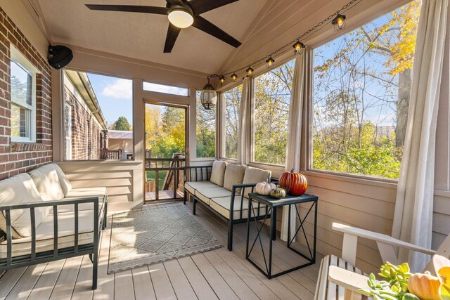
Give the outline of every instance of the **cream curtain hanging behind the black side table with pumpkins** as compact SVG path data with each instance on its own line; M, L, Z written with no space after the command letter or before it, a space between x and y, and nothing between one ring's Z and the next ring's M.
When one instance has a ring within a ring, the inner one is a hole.
M286 146L285 171L300 171L300 150L302 145L302 113L304 99L304 79L306 72L306 49L295 58L295 69L293 87L290 95L290 108L288 119L288 144ZM283 219L281 221L281 240L288 240L288 207L283 208ZM290 230L291 237L295 233L296 224L295 209L290 209Z

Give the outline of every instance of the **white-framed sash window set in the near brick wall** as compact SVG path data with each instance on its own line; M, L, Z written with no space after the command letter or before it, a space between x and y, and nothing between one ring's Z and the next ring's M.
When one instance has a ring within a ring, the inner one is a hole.
M35 141L36 70L15 48L11 48L11 139Z

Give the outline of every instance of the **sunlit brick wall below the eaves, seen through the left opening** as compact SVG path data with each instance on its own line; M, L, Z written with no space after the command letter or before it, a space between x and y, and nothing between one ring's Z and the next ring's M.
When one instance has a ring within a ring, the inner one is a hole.
M72 103L72 160L99 159L100 126L67 86L64 97Z

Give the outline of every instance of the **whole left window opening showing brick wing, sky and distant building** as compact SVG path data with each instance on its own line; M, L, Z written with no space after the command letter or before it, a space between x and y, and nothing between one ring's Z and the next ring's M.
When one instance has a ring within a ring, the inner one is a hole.
M64 71L65 159L133 159L133 81Z

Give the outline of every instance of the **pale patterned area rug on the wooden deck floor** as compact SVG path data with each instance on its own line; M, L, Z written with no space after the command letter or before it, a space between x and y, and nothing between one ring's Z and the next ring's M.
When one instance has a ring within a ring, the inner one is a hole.
M108 274L219 247L184 204L114 214Z

